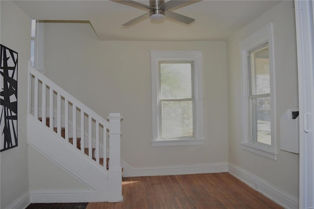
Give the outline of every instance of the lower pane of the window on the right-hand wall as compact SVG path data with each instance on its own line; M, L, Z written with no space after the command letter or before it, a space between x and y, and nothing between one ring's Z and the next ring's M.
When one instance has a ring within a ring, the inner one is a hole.
M270 97L251 99L253 141L271 145Z

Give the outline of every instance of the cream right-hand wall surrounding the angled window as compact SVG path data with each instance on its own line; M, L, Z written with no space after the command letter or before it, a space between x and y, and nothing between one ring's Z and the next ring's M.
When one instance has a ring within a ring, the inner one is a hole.
M241 148L241 69L239 42L266 24L274 23L277 147L280 117L298 99L296 35L293 1L282 1L234 34L227 42L229 102L229 163L298 198L299 155L279 151L272 160Z

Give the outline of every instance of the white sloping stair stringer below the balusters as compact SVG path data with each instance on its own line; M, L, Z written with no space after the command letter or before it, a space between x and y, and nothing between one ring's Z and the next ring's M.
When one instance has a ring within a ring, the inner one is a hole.
M85 199L74 198L65 202L108 201L108 172L104 167L30 114L27 117L27 143L91 190L92 195L84 196Z

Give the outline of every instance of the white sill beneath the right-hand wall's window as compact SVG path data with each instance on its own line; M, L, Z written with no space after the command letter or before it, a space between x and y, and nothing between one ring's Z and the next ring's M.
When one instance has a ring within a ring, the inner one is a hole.
M243 150L255 153L257 155L263 156L263 157L268 157L273 160L277 160L277 151L271 150L268 147L265 147L263 145L255 144L252 142L249 143L240 143L242 145Z

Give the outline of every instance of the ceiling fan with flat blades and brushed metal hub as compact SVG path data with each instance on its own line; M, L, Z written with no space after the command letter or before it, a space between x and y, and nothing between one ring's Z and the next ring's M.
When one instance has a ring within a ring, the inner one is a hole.
M131 26L148 17L150 17L152 20L162 20L165 17L167 17L167 18L179 21L184 24L190 24L194 22L195 19L169 11L169 9L172 9L177 6L185 6L183 4L186 4L188 2L195 3L195 2L198 2L199 0L169 0L167 2L165 2L164 0L150 0L149 5L146 5L138 1L134 1L134 0L113 0L113 1L127 4L134 7L140 7L141 9L149 10L148 13L141 15L137 18L134 18L133 20L122 25L122 26Z

